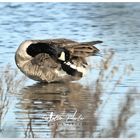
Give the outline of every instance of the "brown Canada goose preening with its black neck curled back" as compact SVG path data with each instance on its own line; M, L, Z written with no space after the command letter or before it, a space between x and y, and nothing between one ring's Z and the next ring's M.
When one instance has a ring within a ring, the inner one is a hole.
M26 76L36 81L79 80L88 66L85 58L99 52L93 46L98 43L102 41L26 40L17 49L15 61Z

